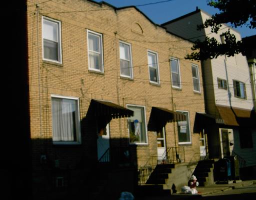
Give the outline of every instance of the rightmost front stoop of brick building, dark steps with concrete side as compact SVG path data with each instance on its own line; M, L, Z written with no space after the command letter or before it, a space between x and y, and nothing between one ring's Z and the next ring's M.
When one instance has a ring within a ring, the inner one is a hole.
M193 174L196 176L199 186L206 186L214 183L213 178L214 160L199 160Z

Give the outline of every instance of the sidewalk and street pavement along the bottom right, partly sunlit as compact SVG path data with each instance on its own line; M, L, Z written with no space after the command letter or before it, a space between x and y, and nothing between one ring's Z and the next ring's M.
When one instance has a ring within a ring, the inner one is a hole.
M197 199L197 197L201 197L201 196L208 196L208 195L212 195L215 193L220 193L226 190L231 190L231 189L236 189L236 188L242 188L242 187L247 187L249 185L253 185L256 184L256 180L238 180L236 182L229 182L229 183L219 183L219 184L210 184L207 186L197 186L196 190L198 191L197 194L184 194L181 192L177 192L174 194L171 194L171 196L146 196L146 197L139 197L136 198L135 200L169 200L169 199L174 199L174 200L178 200L178 199L185 199L185 198L193 198L193 199ZM256 192L256 191L255 191Z

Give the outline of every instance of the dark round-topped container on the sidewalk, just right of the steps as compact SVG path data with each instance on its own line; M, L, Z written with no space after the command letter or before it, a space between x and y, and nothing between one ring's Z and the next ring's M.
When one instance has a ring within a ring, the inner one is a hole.
M231 180L231 164L227 158L219 159L216 163L215 177L217 182L228 182Z

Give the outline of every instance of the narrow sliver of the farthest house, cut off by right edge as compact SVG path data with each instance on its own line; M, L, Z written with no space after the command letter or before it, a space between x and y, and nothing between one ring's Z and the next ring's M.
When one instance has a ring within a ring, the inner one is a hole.
M252 89L252 99L254 111L256 111L256 35L243 37L242 42L246 46L246 58L250 71L250 84Z

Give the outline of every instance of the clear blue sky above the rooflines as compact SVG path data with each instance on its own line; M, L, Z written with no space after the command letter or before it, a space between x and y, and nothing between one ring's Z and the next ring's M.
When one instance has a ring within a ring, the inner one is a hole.
M100 2L102 0L94 0ZM212 15L219 10L207 5L209 0L104 0L105 2L115 6L123 7L136 5L148 18L154 23L161 24L171 19L192 12L196 6ZM158 3L156 3L158 2ZM149 3L149 4L148 4ZM153 4L150 4L153 3ZM147 5L144 5L147 4ZM250 29L246 26L234 28L240 32L241 37L256 34L256 29Z

